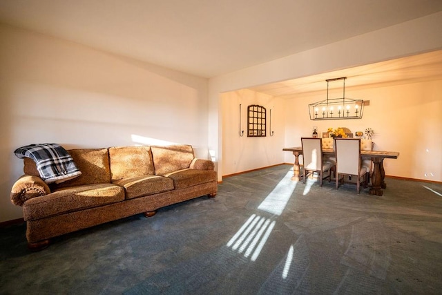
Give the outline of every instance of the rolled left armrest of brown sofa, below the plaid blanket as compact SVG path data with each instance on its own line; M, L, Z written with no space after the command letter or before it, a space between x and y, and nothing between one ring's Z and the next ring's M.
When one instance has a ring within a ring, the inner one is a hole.
M17 206L23 206L27 200L50 193L48 184L34 175L23 175L11 189L11 202Z

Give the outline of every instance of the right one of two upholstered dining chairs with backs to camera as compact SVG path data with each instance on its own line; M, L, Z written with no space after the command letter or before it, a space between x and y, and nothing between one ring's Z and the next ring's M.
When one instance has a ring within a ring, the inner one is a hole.
M336 149L336 189L345 175L356 176L356 190L361 183L367 187L367 168L361 166L361 139L335 138ZM340 178L342 176L342 178ZM361 182L362 179L362 182Z

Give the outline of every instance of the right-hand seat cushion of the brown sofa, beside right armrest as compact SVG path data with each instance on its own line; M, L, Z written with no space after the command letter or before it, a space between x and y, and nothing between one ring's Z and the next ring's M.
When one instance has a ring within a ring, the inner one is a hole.
M216 171L208 170L182 169L167 173L164 176L173 179L175 189L184 189L206 182L217 181Z

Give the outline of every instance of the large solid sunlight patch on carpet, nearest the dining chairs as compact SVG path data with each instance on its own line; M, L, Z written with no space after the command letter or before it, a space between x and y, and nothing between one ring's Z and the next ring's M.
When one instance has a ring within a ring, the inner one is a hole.
M272 214L281 215L287 202L289 202L291 193L293 193L296 184L298 183L291 181L291 176L293 176L293 171L287 172L273 191L271 191L265 200L262 201L258 209Z

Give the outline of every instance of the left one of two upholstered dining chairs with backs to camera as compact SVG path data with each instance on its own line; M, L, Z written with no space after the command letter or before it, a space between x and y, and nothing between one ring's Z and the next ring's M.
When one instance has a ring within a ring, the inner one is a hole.
M304 179L305 183L308 175L314 172L319 174L319 185L323 186L323 179L332 180L332 163L323 160L323 143L320 138L302 137L302 159L304 161ZM328 171L328 175L324 176L324 172Z

